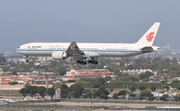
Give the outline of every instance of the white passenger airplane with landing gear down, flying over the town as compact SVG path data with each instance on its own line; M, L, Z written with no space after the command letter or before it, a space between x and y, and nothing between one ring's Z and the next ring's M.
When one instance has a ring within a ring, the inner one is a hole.
M129 57L160 49L153 46L160 22L155 22L136 43L62 43L32 42L19 46L17 52L26 56L50 56L54 60L73 57L76 63L98 64L99 57Z

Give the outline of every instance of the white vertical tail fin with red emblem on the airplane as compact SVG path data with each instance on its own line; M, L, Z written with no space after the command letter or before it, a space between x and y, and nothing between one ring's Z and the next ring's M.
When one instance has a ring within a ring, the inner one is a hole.
M152 46L156 34L158 32L159 26L160 26L160 22L155 22L151 26L151 28L139 39L139 41L136 44Z

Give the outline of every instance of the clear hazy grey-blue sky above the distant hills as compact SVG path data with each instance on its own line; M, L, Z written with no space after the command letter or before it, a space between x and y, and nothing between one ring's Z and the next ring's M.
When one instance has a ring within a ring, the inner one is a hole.
M180 0L1 0L0 21L65 20L102 28L178 21Z

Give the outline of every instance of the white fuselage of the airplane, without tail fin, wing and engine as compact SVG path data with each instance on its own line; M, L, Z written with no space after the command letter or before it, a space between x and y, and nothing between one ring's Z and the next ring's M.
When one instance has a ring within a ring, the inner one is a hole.
M27 43L17 48L17 52L28 56L51 56L54 51L66 51L70 43ZM77 43L81 51L87 54L95 53L98 57L126 57L142 52L144 46L122 43ZM154 47L155 48L155 47Z

